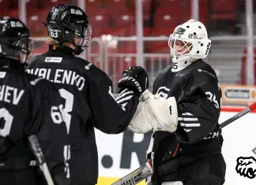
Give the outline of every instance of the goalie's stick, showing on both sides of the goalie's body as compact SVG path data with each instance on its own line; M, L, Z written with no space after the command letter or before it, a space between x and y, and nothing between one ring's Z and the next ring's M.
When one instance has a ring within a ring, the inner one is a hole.
M240 113L235 114L235 116L225 120L222 124L220 124L220 128L226 127L228 124L231 124L234 120L239 119L239 117L243 117L247 113L254 111L256 109L256 102L251 104L247 109L244 109ZM127 176L122 177L115 183L111 185L134 185L140 183L142 180L146 179L152 174L152 165L151 161L146 162L144 165L141 165L140 168L137 168L133 172L129 173Z

